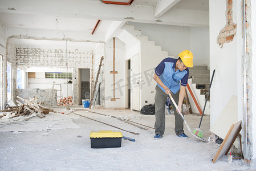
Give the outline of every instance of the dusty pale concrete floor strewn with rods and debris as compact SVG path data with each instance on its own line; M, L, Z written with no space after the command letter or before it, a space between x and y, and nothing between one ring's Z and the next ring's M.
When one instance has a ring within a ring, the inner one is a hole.
M220 146L214 141L202 143L194 139L184 125L189 139L174 134L174 115L166 115L164 137L154 140L155 130L143 130L113 117L85 111L82 107L72 111L107 124L136 132L121 131L120 148L91 148L92 130L118 130L108 125L75 115L65 108L55 108L46 117L0 119L0 170L249 170L242 160L227 162L227 156L215 164L212 159ZM94 112L118 116L154 127L155 115L140 115L131 110L93 109ZM198 127L200 116L185 115L190 128ZM209 116L205 116L201 129L208 140Z

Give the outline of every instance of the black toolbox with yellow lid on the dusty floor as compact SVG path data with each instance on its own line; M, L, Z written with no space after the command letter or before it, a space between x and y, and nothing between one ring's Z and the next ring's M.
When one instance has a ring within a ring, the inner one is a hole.
M120 131L91 131L91 148L120 147L122 137Z

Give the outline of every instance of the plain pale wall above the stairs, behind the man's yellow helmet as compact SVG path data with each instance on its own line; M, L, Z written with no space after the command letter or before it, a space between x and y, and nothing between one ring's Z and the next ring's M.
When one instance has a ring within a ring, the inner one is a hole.
M209 28L156 25L147 23L133 23L136 30L148 36L156 46L161 46L163 51L168 51L168 56L178 58L184 50L194 54L194 66L209 65Z

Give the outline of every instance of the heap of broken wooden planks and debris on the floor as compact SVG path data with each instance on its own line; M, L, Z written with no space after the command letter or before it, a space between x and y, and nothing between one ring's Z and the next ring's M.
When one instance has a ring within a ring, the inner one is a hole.
M48 114L49 112L55 112L51 108L44 107L42 103L37 103L36 100L25 100L22 97L17 96L18 99L22 100L21 101L17 100L17 103L19 105L16 105L14 102L12 103L13 105L9 105L9 107L6 107L7 109L2 110L1 112L2 115L0 117L6 116L10 114L9 117L17 117L17 116L29 116L31 114L36 115L40 118L45 117L45 114Z

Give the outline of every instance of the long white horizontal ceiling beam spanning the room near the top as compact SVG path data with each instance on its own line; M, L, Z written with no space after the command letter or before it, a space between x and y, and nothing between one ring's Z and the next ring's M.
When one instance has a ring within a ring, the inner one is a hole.
M156 20L156 18L153 17L153 6L147 5L116 6L107 5L100 1L44 0L36 1L36 3L34 1L1 0L0 13L50 15L56 17L87 18L108 21L131 21L139 23L157 23L162 25L209 27L209 13L207 11L184 9L172 9L166 11L168 8L165 8L158 10L160 12L157 13L156 16L161 14L161 11L166 12L159 18L159 20ZM172 2L174 3L173 0ZM166 3L166 1L164 4L169 7L171 6L171 4ZM62 6L61 8L60 5ZM161 6L162 5L157 6L156 9L159 9ZM187 11L189 15L185 14Z

